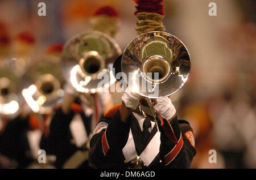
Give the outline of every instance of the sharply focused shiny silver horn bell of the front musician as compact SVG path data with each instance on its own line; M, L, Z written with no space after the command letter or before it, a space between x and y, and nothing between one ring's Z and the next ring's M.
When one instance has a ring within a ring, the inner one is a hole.
M126 82L148 98L170 96L187 81L191 63L187 48L166 32L139 35L125 49L121 60Z

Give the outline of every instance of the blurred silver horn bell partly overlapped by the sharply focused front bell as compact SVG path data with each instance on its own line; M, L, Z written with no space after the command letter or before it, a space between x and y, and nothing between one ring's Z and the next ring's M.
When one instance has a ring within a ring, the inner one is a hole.
M104 33L81 33L64 46L61 54L64 78L79 92L98 92L101 88L107 88L104 85L99 87L102 78L98 78L98 75L103 72L108 76L105 84L109 86L111 68L120 54L118 44Z

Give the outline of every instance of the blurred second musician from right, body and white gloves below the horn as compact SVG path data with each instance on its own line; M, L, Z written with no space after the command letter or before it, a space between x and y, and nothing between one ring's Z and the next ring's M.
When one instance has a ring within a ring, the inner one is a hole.
M87 161L88 143L95 126L93 119L100 117L88 101L93 101L92 96L82 95L68 85L65 92L63 103L55 108L49 134L42 139L41 148L56 156L56 168L91 168ZM109 93L98 93L97 97L96 103L101 108L98 110L102 112L111 97Z

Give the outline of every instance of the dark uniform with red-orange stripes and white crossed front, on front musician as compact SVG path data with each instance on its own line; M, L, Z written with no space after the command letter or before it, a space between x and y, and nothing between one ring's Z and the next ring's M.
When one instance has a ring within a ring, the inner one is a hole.
M189 123L175 116L170 123L170 132L159 124L146 133L145 122L141 119L143 130L131 113L129 122L120 120L119 106L116 105L98 122L90 140L89 161L95 168L189 168L196 155L195 138ZM136 116L136 117L135 117ZM148 135L146 135L148 134ZM176 138L170 140L167 135Z

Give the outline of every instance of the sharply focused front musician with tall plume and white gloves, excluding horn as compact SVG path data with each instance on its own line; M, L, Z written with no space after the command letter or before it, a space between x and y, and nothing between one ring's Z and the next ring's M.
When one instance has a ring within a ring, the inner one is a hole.
M164 31L163 0L134 1L137 32ZM114 63L115 75L121 70L121 59ZM193 129L177 119L170 98L156 101L154 122L147 101L126 88L122 103L103 115L90 140L89 161L95 168L189 168L196 155Z

